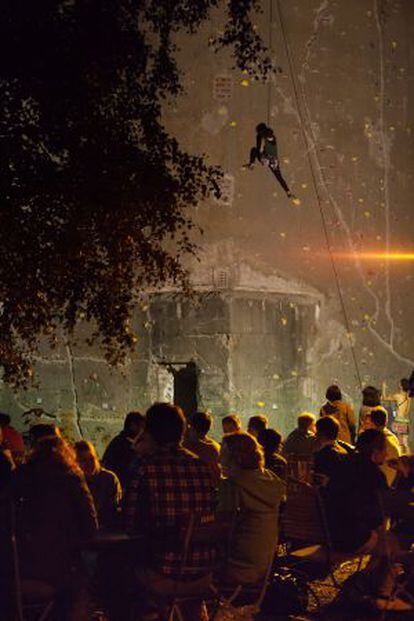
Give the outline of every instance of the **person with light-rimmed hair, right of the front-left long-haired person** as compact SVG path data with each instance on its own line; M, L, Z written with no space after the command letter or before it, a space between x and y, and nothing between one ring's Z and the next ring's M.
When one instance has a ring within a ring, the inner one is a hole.
M100 528L116 530L119 526L122 499L118 477L101 466L91 442L87 440L76 442L75 451L95 503Z

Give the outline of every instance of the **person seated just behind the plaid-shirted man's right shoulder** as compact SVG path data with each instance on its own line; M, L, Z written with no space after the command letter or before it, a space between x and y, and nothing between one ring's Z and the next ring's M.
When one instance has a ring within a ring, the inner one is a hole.
M213 417L209 412L195 412L190 417L184 446L208 465L214 481L218 485L220 481L220 444L207 435L212 424Z

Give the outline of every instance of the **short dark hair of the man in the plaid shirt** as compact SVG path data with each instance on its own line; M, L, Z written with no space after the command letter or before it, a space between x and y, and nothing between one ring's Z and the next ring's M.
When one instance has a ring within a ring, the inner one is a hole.
M183 439L186 420L178 405L154 403L145 418L145 431L157 444L178 446Z

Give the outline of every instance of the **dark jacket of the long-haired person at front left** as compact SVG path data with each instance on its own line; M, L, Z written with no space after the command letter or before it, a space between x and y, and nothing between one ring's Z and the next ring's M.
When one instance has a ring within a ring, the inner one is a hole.
M22 576L64 586L79 542L97 530L85 479L60 465L28 463L14 473L11 486Z

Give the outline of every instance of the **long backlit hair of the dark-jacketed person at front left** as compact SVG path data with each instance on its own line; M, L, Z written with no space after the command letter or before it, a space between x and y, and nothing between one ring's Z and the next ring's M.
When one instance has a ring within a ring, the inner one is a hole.
M46 436L29 454L28 463L45 468L48 473L66 473L83 477L73 448L62 437Z

